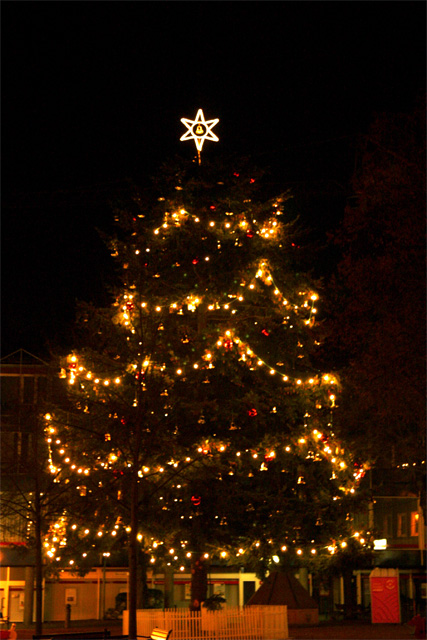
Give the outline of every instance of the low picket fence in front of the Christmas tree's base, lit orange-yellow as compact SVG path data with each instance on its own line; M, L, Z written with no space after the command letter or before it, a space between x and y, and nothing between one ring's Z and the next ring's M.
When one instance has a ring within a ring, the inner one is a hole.
M171 640L287 640L286 606L225 607L220 611L140 609L138 636L150 636L154 627L172 629ZM123 612L123 633L129 630Z

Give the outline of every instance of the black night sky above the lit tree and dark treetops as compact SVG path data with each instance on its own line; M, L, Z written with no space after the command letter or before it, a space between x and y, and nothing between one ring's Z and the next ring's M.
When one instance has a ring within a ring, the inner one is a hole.
M2 2L2 355L63 340L108 277L96 227L176 153L250 154L333 228L359 136L425 94L424 2ZM37 354L36 354L37 355Z

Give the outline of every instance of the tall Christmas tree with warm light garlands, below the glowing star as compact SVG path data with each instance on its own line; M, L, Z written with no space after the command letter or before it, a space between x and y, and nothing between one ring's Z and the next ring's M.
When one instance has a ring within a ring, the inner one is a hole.
M49 428L81 508L53 526L53 561L84 569L126 541L131 636L139 560L191 563L198 608L206 562L264 575L357 536L363 468L334 438L337 378L310 357L318 294L289 194L261 181L245 160L178 160L119 207L114 302L82 309L63 362L70 406Z

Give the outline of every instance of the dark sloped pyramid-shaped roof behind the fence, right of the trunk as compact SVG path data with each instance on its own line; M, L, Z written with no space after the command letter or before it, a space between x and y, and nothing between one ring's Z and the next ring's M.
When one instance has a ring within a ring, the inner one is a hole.
M246 603L287 605L288 609L318 609L317 602L291 574L273 571Z

